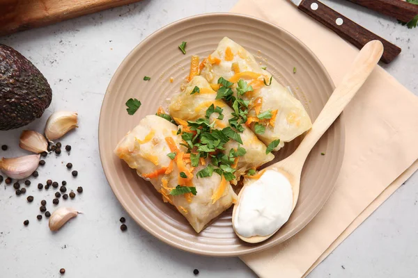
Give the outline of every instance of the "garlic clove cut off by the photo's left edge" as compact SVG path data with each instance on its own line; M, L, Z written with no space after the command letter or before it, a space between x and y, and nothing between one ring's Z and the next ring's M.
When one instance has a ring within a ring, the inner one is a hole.
M30 154L29 156L15 158L1 158L0 170L12 179L24 179L36 170L39 165L39 160L39 154Z

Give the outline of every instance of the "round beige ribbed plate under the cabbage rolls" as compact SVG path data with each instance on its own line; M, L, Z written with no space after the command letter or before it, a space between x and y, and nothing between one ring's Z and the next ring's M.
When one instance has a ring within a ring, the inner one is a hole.
M295 235L320 211L332 193L344 151L341 118L316 144L302 172L299 202L291 218L277 234L263 243L250 245L235 236L232 209L196 234L183 215L162 202L150 183L117 158L118 141L145 115L154 114L166 99L178 92L188 74L192 54L208 56L224 36L250 51L274 77L290 85L314 121L331 95L334 85L318 58L290 33L254 17L208 14L169 24L141 42L123 60L114 74L102 104L99 123L100 158L116 197L144 229L181 250L210 256L238 256L265 250ZM187 54L178 45L187 42ZM297 73L293 74L293 67ZM144 81L150 76L150 81ZM173 83L169 79L173 77ZM127 115L125 101L141 101L135 115ZM293 152L300 138L286 145L276 160ZM325 152L325 156L320 153Z

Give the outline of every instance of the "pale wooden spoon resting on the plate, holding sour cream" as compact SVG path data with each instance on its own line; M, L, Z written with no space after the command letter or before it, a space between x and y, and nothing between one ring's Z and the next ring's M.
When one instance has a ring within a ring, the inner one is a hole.
M382 53L382 42L379 40L373 40L367 43L359 52L357 58L355 58L353 65L351 65L350 70L348 70L348 73L344 76L343 81L341 81L341 83L335 88L330 99L328 99L327 104L325 104L323 110L320 112L316 121L312 125L312 129L304 137L295 152L283 161L274 163L265 169L281 172L281 174L284 174L290 181L293 190L292 211L295 209L297 198L299 197L302 167L309 152L311 152L311 149L314 147L316 142L318 142L319 138L323 136L325 131L327 131L334 120L336 120L336 118L341 114L346 105L351 101L351 99L353 99L357 90L362 87L364 81L366 81L380 60ZM245 193L245 183L246 181L244 181L244 187L238 195L238 204L235 204L233 207L232 224L235 233L239 238L247 243L260 243L261 241L270 238L270 236L275 234L278 229L268 236L251 236L249 238L240 236L237 233L234 224L235 213L237 213L237 208L242 194Z

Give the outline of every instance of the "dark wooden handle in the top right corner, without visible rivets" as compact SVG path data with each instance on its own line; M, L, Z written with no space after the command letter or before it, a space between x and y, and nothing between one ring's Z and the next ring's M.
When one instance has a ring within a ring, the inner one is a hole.
M402 22L410 22L418 15L418 5L400 0L348 0L359 4L382 15L395 17Z

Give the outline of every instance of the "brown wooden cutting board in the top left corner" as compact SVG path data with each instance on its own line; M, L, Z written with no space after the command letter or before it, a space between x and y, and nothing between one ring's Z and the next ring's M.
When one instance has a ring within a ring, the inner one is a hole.
M139 0L0 0L0 36Z

